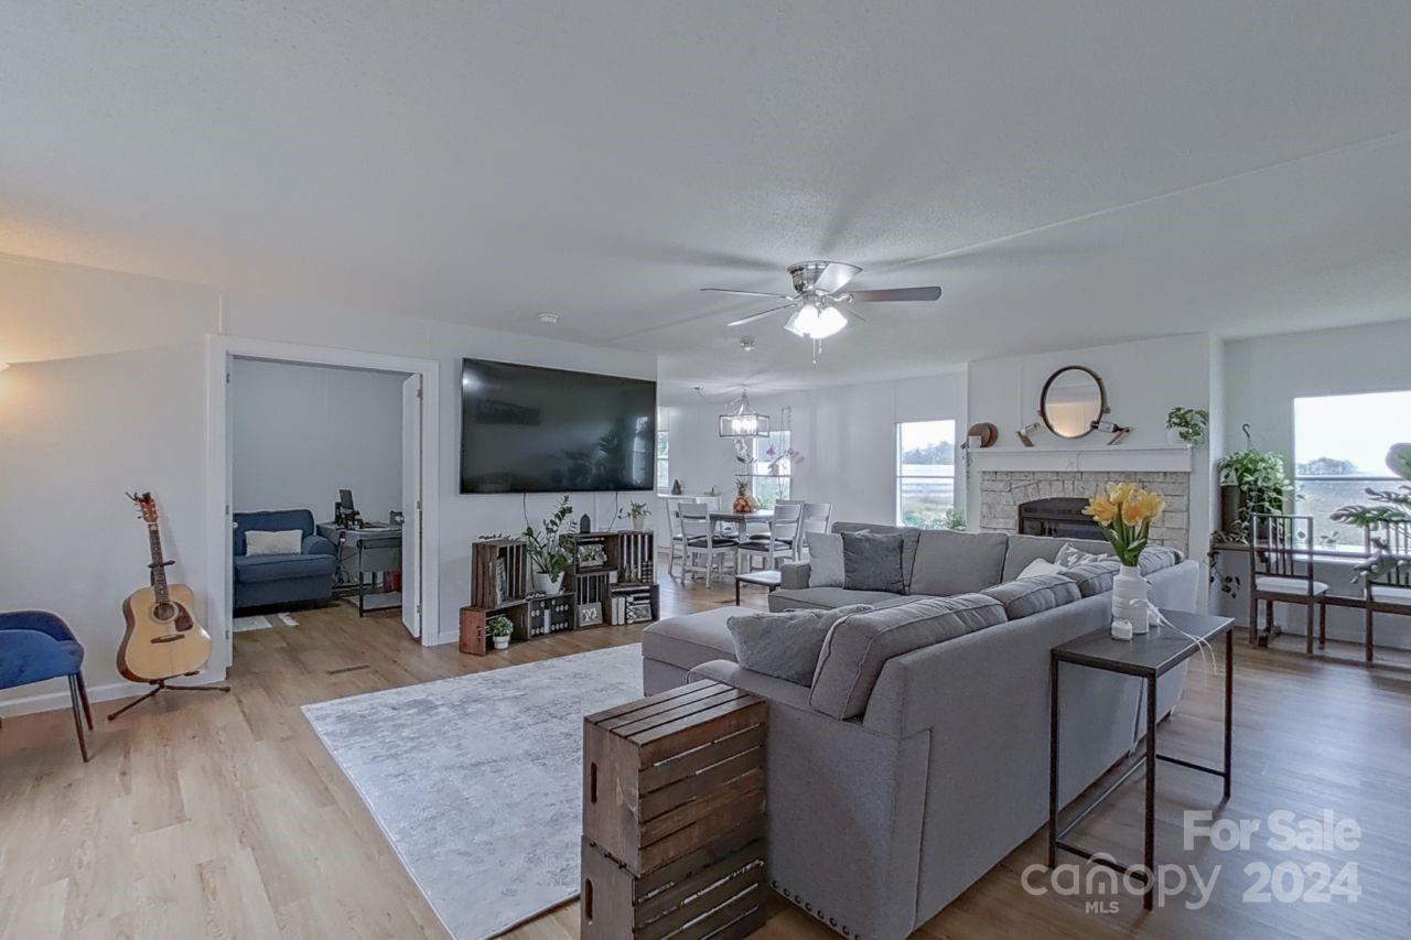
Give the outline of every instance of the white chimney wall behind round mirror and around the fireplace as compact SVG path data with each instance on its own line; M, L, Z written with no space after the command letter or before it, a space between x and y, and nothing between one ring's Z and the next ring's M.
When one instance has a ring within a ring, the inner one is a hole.
M1038 419L1038 397L1048 377L1064 366L1086 366L1102 377L1112 412L1108 418L1132 428L1115 447L1158 447L1167 445L1165 415L1180 405L1211 411L1219 388L1215 367L1216 343L1206 333L1165 336L1112 346L1007 356L969 364L969 422L993 422L999 446L1022 446L1015 432ZM1062 440L1038 430L1034 447L1102 447L1108 435L1094 432L1078 440ZM1201 556L1209 542L1213 517L1211 446L1192 453L1189 508L1191 553ZM969 517L979 518L978 487L969 500Z

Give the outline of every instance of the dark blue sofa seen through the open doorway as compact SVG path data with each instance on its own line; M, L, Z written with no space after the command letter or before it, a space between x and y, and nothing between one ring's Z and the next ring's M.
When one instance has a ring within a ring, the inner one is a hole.
M333 542L313 534L313 514L308 510L236 512L236 610L268 604L329 600L333 597L333 572L337 549ZM246 555L246 532L303 532L298 555Z

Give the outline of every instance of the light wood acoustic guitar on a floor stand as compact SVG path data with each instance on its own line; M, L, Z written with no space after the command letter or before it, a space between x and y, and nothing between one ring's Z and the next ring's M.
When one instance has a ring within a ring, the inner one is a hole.
M157 525L157 501L151 493L128 493L147 524L152 550L151 587L133 591L123 601L127 632L117 648L117 670L133 682L159 683L198 672L210 658L210 634L196 622L196 596L185 584L166 583L168 562L162 558L162 534Z

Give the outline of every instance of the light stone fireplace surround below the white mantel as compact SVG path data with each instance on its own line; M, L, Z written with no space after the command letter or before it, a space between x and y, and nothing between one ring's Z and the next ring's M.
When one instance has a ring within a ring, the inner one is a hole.
M1019 505L1054 497L1086 498L1109 483L1134 483L1160 493L1165 511L1151 525L1151 542L1189 555L1191 474L1182 471L1115 470L982 470L979 474L981 532L1019 531Z

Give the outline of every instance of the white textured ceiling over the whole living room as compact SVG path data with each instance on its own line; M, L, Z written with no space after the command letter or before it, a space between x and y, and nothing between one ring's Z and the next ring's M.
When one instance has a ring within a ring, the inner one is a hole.
M0 251L552 311L679 387L1411 316L1404 0L47 0L0 41ZM811 257L945 295L813 366L697 289Z

